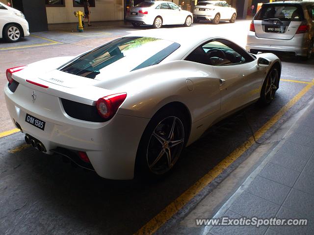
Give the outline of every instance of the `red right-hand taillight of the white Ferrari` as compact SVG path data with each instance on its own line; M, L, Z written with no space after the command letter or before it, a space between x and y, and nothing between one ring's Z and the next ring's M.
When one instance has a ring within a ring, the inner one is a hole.
M127 93L111 94L97 100L96 107L102 118L110 119L126 99Z

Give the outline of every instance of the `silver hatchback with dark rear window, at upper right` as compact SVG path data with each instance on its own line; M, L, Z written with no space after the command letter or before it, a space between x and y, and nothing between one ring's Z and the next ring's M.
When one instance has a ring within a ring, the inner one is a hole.
M309 59L314 44L314 2L284 1L262 4L247 36L246 49L292 52Z

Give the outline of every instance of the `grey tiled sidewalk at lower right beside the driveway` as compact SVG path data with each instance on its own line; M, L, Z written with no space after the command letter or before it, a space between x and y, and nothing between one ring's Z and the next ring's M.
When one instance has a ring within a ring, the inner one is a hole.
M307 226L209 226L208 235L314 234L314 103L215 218L308 219ZM239 196L239 191L242 193Z

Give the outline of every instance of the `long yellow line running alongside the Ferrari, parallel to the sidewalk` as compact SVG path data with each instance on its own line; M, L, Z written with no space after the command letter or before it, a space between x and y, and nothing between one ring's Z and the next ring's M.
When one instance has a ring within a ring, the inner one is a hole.
M299 99L302 98L314 85L313 81L304 87L297 95L295 95L278 113L270 118L257 132L254 133L256 140L260 139L266 131L268 131ZM251 137L241 146L236 148L228 157L218 163L206 175L199 179L193 186L188 188L177 199L171 202L165 209L160 211L153 219L145 224L135 235L151 235L154 234L165 222L167 222L175 213L183 208L195 195L205 188L212 180L214 180L223 170L230 164L235 162L248 148L255 143Z

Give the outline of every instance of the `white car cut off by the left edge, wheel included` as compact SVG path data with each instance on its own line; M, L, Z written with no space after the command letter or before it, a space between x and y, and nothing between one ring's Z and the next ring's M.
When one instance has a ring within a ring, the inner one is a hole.
M18 42L29 35L28 22L24 14L0 2L0 38L9 43Z

